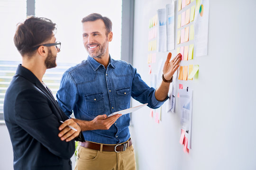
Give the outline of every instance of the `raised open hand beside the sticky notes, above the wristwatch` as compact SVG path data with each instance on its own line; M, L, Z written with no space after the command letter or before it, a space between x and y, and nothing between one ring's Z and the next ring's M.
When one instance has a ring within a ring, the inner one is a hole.
M163 68L163 74L166 80L171 80L172 76L174 75L175 71L180 66L179 63L181 61L181 54L179 53L174 59L172 59L172 53L169 52L167 59L165 61L165 65ZM171 60L171 61L170 61Z

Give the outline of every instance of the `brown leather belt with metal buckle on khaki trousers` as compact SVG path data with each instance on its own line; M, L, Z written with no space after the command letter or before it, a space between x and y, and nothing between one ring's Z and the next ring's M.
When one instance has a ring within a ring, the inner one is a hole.
M93 142L85 141L85 142L79 142L79 145L85 148L93 149L93 150L101 150L101 144L96 144ZM121 151L125 151L130 145L132 145L131 138L125 143L122 144L116 144L116 145L110 145L110 144L102 144L102 151L107 152L116 152L119 153Z

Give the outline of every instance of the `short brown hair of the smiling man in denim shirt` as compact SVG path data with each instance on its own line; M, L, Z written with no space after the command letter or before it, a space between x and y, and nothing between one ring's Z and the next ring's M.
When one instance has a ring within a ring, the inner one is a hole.
M90 15L82 18L82 23L88 21L96 21L97 19L101 19L104 22L105 28L107 30L106 34L108 35L112 31L112 22L108 17L102 17L102 15L98 13L91 13Z

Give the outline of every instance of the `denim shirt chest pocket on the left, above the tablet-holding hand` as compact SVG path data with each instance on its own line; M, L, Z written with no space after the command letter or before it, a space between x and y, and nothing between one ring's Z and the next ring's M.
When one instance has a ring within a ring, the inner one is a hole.
M88 114L98 116L106 112L103 93L84 95Z

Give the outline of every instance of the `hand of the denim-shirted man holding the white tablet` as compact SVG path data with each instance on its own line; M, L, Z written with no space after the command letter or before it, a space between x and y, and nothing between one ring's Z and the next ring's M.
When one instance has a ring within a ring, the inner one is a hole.
M122 114L116 114L114 116L111 116L107 118L107 115L99 115L95 117L93 120L91 120L91 126L94 130L96 129L102 129L107 130L109 129L117 119L122 116Z

